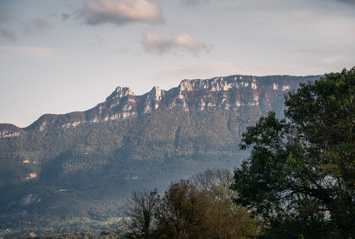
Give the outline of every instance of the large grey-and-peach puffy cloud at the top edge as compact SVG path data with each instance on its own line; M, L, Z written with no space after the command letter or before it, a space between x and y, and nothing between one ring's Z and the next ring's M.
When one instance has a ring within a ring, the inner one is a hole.
M146 0L96 0L78 11L89 25L129 22L164 23L162 8Z

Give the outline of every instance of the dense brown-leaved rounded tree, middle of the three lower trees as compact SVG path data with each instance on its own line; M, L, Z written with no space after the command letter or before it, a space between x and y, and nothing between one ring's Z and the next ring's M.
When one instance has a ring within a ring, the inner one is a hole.
M189 180L171 183L156 214L160 238L202 238L207 232L208 200Z

